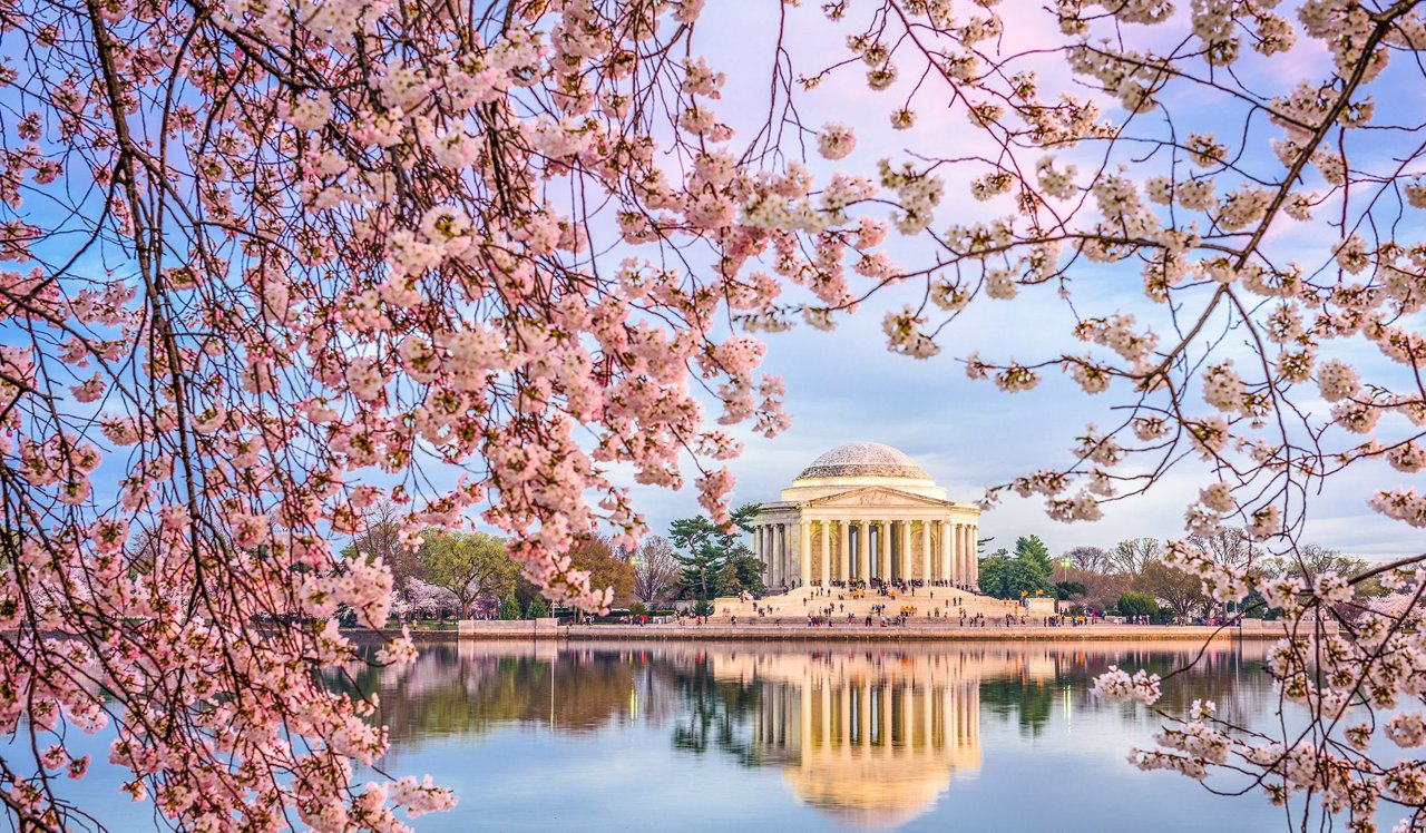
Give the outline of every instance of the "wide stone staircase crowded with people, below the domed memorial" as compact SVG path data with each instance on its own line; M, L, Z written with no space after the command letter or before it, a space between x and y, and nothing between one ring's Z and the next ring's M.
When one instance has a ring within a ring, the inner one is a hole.
M914 609L908 615L918 623L955 623L960 620L963 609L968 618L984 615L985 619L997 622L1010 612L1014 612L1017 616L1024 613L1037 623L1040 618L1054 613L1054 602L1048 599L1034 599L1030 608L1021 608L1018 603L1005 603L1002 599L981 596L971 591L955 588L915 588L914 593L911 591L896 591L891 596L876 591L853 593L831 588L830 595L819 593L817 591L819 588L797 588L786 593L763 596L761 599L749 598L740 601L736 596L714 599L713 615L709 616L709 622L730 623L736 616L739 623L806 623L809 612L824 615L829 605L834 608L834 623L846 622L847 615L854 616L857 622L864 622L867 616L877 618L884 615L891 618L900 615L903 608ZM878 605L884 606L884 613L874 610ZM764 610L763 615L759 615L760 609ZM928 612L933 613L931 618L927 616ZM940 616L934 616L937 612Z

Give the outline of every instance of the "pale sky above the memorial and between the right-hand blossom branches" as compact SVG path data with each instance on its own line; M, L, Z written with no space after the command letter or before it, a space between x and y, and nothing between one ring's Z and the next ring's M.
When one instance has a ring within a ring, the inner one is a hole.
M736 13L720 14L734 9ZM1005 9L1001 11L1005 13ZM766 73L773 41L770 34L759 40L757 33L776 31L776 21L759 20L760 13L767 14L767 10L759 11L746 3L710 4L699 24L700 41L696 46L706 48L710 63L727 73L719 111L732 113L727 118L734 126L739 111L760 116L766 113ZM1034 46L1050 34L1042 31L1038 19L1008 19L1017 24L1007 33L1012 46ZM829 27L816 9L790 11L787 20L790 23L783 46L789 48L799 70L807 68L803 61L827 64L846 54L841 39L848 29ZM1271 64L1259 58L1246 60L1245 71L1271 71L1278 76L1278 86L1291 88L1288 81L1293 76L1320 66L1320 60L1316 44L1303 41ZM873 93L861 83L863 70L860 66L848 67L843 76L834 76L799 101L800 116L809 127L816 128L824 121L857 126L858 145L844 163L848 168L874 173L877 158L906 158L907 151L970 155L985 150L975 144L964 113L955 113L954 108L937 111L918 107L915 130L893 131L883 114L904 100L906 78L914 77L915 71L903 67L903 81L893 91ZM727 101L737 101L739 107L729 107ZM1389 108L1422 104L1426 104L1426 96L1412 87L1402 88L1400 98L1380 106ZM1215 111L1221 107L1216 101L1188 97L1176 100L1174 106L1176 130L1216 128L1219 136L1242 130L1241 123L1235 123L1232 117L1225 120L1221 111ZM1107 107L1112 104L1107 103ZM1261 120L1258 127L1262 127ZM1266 160L1271 153L1268 140L1273 136L1275 131L1262 131L1261 136L1249 137L1245 145L1246 163ZM820 161L816 158L810 158L807 164L814 174L826 173L819 168ZM971 201L964 188L967 178L954 171L947 175L948 198L943 203L934 227L945 221L965 223L1004 213L1002 207ZM1323 211L1330 208L1328 205ZM1409 238L1416 230L1403 231L1403 237ZM894 237L893 232L893 240ZM1273 225L1271 245L1285 257L1301 257L1305 262L1330 258L1330 240L1325 241L1310 224ZM925 260L924 251L906 254L910 262L915 262L915 255ZM1144 300L1137 270L1128 274L1081 272L1081 277L1089 278L1088 298L1097 304L1097 312L1128 311L1141 321L1156 322L1161 334L1166 329L1164 310ZM1087 295L1084 290L1079 292L1077 304L1082 310ZM793 415L793 425L771 439L740 434L746 442L744 454L730 464L739 481L734 505L777 499L779 491L790 485L820 454L856 441L896 446L945 486L951 499L975 501L985 486L1038 468L1071 462L1070 448L1087 422L1109 425L1112 414L1108 405L1112 404L1112 392L1098 398L1087 397L1067 379L1054 378L1055 372L1045 374L1045 382L1027 394L1001 394L994 385L965 378L961 359L971 351L998 358L1014 355L1031 359L1047 352L1057 354L1055 345L1062 349L1072 317L1052 288L1041 297L1025 292L1012 304L992 302L978 310L973 307L975 315L957 321L941 339L943 352L927 361L890 354L881 334L883 314L911 295L914 287L886 291L833 332L799 327L790 332L763 337L769 345L764 367L786 382L786 405ZM1241 352L1232 338L1222 348L1229 355ZM1375 354L1375 348L1360 344L1343 349L1349 358ZM1194 399L1208 411L1196 397ZM1119 401L1125 401L1122 389ZM1303 407L1318 414L1328 408L1320 399L1308 399ZM716 409L710 408L710 412ZM1303 541L1373 559L1419 551L1420 535L1366 506L1366 498L1373 489L1416 485L1412 481L1419 478L1400 475L1385 464L1349 469L1332 481L1326 492L1312 496ZM1057 553L1078 545L1112 546L1124 538L1178 538L1184 533L1185 506L1199 488L1211 482L1206 468L1188 459L1148 495L1108 505L1102 521L1074 525L1050 521L1038 498L1007 495L981 518L981 536L994 536L987 549L995 549L1012 546L1020 535L1040 535L1051 552ZM635 495L636 506L645 512L655 532L666 531L669 521L674 518L699 512L692 489L670 494L635 488Z

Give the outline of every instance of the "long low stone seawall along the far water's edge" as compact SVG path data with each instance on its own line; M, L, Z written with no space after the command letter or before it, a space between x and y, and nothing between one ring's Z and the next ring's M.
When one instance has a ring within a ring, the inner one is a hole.
M1038 625L958 628L955 625L907 625L904 628L867 628L866 625L837 625L807 628L806 625L550 625L535 622L461 622L462 639L647 639L647 640L838 640L838 642L898 642L898 640L1025 640L1025 642L1127 642L1127 640L1188 640L1209 639L1282 639L1285 629L1276 622L1243 628L1214 628L1204 625L1087 625L1079 628L1044 628ZM1335 623L1328 628L1336 632ZM449 633L449 632L445 632ZM1303 628L1303 635L1308 629Z

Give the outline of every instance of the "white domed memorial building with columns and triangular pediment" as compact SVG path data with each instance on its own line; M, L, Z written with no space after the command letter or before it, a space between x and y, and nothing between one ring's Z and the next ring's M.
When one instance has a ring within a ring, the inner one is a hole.
M773 593L854 581L974 588L978 519L975 504L947 499L906 454L848 442L761 504L753 552Z

